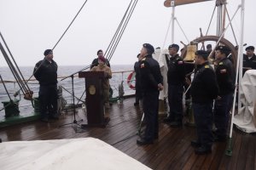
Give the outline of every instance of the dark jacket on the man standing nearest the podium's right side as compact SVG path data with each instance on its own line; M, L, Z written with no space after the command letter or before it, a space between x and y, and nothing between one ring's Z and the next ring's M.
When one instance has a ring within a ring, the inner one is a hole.
M147 55L140 62L140 80L144 93L158 91L158 84L163 84L160 65L152 55Z

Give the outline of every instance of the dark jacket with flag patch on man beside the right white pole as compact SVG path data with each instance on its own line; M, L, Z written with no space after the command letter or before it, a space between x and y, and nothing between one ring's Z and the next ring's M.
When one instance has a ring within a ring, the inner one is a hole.
M215 69L219 94L225 95L233 93L235 89L235 70L230 59L224 58L218 62Z

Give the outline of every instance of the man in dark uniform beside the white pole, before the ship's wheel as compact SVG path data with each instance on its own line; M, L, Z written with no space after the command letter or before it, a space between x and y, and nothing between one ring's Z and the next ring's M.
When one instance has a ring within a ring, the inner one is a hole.
M215 141L226 139L230 108L235 90L235 69L234 65L227 58L230 48L218 46L215 51L216 69L215 74L218 82L218 98L214 105L214 124L217 130L214 132Z

